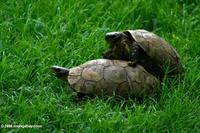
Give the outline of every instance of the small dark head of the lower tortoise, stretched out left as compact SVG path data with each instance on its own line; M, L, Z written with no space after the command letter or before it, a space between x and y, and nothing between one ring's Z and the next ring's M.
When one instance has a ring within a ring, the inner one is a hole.
M52 66L50 69L55 74L55 76L61 80L66 80L69 75L69 69L64 67Z

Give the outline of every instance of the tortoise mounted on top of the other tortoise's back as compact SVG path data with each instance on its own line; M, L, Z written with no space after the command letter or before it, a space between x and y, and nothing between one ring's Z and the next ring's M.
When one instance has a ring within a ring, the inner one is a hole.
M129 61L130 66L141 64L148 72L162 79L168 67L168 76L181 72L182 66L177 51L156 34L139 29L109 32L105 35L109 49L104 59Z

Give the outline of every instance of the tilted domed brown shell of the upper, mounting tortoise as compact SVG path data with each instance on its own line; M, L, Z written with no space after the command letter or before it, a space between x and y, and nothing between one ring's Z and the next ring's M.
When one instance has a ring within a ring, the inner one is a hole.
M163 67L169 65L169 73L179 73L182 69L180 56L165 40L146 30L127 30L133 39L154 62Z

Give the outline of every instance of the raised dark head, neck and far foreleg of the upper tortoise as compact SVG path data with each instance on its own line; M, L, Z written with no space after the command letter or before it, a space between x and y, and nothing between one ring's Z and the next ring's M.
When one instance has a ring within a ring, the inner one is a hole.
M106 33L105 40L109 50L103 54L103 58L129 60L129 46L134 39L128 31Z

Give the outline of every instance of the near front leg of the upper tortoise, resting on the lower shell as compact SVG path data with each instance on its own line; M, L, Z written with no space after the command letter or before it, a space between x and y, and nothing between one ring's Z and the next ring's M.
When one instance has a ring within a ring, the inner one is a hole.
M129 46L129 66L135 66L139 61L140 47L137 44Z

